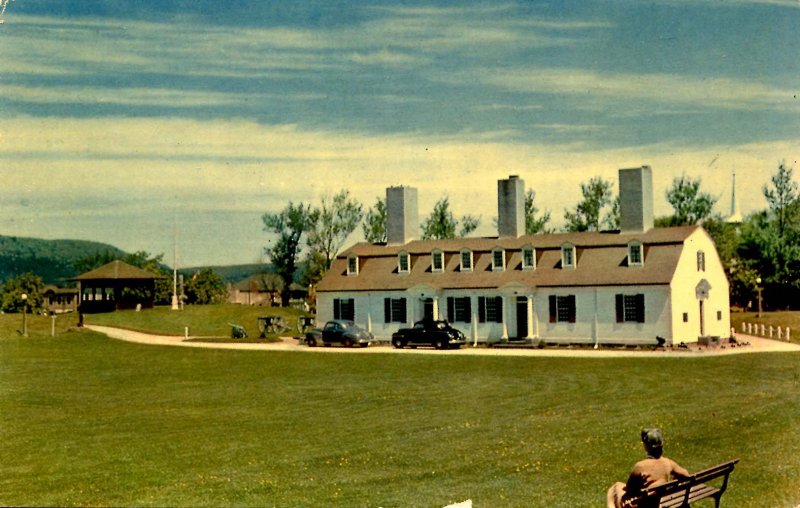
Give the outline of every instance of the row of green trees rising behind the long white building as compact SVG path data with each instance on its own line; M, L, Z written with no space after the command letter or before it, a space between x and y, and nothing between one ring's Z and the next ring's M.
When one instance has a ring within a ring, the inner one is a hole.
M657 217L656 227L703 225L716 243L731 282L734 305L754 306L761 289L767 308L798 306L800 197L793 168L780 164L761 190L767 208L741 222L730 222L714 212L717 198L701 190L699 178L682 175L664 194L673 213ZM565 209L563 217L563 226L554 227L551 212L537 206L536 192L526 192L526 234L617 230L619 196L614 194L613 182L593 177L581 183L580 201ZM275 235L265 252L283 281L284 291L293 281L316 284L359 225L366 241L386 241L385 199L378 197L372 207L364 210L347 190L324 197L316 206L290 202L281 212L264 214L262 219L264 230ZM420 237L464 237L478 228L480 220L471 215L456 218L450 211L449 198L444 196L421 222Z

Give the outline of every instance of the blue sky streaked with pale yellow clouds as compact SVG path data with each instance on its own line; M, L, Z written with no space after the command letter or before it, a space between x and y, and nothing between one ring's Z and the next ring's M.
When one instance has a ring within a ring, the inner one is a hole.
M619 168L653 168L656 215L681 175L726 215L735 171L747 214L798 168L800 0L2 7L0 235L256 263L264 213L342 189L491 236L509 175L558 227Z

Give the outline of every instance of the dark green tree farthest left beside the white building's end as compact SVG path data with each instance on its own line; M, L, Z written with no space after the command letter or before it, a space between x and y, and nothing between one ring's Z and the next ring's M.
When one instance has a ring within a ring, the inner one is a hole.
M279 213L265 213L261 219L264 221L264 231L278 235L272 246L264 248L270 262L275 267L281 280L283 290L281 298L289 301L289 286L294 281L297 269L297 259L300 254L300 239L308 230L311 208L303 203L295 205L291 201Z

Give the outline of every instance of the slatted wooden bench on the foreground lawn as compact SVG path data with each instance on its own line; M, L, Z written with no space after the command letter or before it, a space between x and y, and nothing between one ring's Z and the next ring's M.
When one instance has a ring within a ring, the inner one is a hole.
M684 480L673 480L669 483L645 490L636 500L636 506L659 508L686 508L701 499L714 499L714 506L719 508L719 500L728 488L728 476L739 459L725 462L718 466L697 472ZM712 480L722 478L719 487L708 485Z

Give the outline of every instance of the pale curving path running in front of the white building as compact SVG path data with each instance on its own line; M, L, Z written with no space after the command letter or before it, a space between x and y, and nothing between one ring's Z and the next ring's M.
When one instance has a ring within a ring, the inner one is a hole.
M780 342L761 337L749 335L737 335L740 342L749 342L749 346L726 347L725 349L692 349L672 350L672 351L631 351L631 350L593 350L593 349L567 349L567 348L545 348L545 349L509 349L509 348L487 348L487 347L462 347L451 351L438 351L430 348L419 349L395 349L391 346L371 346L368 348L343 348L343 347L315 347L311 348L298 344L298 341L284 337L281 342L252 344L252 343L219 343L219 342L189 342L183 336L170 335L151 335L141 332L133 332L109 326L86 325L89 330L108 335L113 339L136 342L139 344L151 344L157 346L181 346L199 347L213 349L238 349L251 351L298 351L306 353L348 353L348 354L439 354L439 355L483 355L483 356L539 356L539 357L581 357L581 358L621 358L621 357L662 357L662 358L690 358L708 355L732 355L742 353L762 353L772 351L800 351L800 345L788 342ZM190 337L191 338L191 337Z

